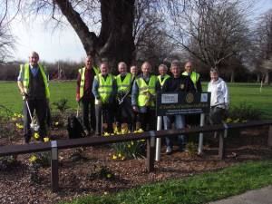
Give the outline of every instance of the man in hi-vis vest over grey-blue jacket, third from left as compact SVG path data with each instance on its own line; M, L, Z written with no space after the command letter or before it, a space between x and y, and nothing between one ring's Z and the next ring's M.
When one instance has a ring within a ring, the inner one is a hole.
M92 93L95 97L95 134L102 134L102 122L107 123L107 132L112 133L113 113L112 106L116 95L116 82L109 70L109 64L102 62L98 75L92 83Z

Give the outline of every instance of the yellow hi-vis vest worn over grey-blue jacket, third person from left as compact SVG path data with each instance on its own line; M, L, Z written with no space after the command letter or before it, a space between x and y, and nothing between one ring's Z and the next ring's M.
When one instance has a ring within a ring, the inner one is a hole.
M99 83L98 94L101 98L102 103L108 102L112 94L114 76L111 73L108 73L106 80L104 80L104 78L102 77L102 73L99 73L95 76L95 79ZM99 104L99 102L95 100L95 104Z

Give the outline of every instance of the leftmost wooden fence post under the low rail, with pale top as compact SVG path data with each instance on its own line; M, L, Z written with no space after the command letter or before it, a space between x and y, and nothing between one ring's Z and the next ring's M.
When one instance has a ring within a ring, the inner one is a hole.
M51 141L51 186L52 186L53 192L56 192L59 190L57 141Z

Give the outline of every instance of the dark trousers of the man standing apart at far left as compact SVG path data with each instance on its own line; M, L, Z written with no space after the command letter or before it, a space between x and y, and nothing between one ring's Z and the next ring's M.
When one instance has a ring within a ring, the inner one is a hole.
M37 115L37 120L40 125L39 128L39 135L40 135L40 141L44 141L44 137L46 136L46 112L47 112L47 102L46 99L42 100L28 100L29 109L31 112L31 115L34 116L34 111ZM32 132L30 129L30 114L28 112L26 102L24 101L24 140L26 142L30 141Z

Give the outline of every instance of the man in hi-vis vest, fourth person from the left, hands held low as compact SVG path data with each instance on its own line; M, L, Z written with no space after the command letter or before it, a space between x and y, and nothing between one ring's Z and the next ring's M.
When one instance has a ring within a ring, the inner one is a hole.
M128 124L130 131L133 131L133 110L131 107L131 86L132 74L127 72L127 64L124 62L118 63L119 74L115 77L117 84L117 104L118 111L116 112L117 128L120 131L121 124Z

